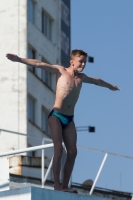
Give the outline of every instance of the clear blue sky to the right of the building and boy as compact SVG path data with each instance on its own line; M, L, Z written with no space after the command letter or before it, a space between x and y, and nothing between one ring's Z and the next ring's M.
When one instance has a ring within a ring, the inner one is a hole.
M133 157L133 1L71 0L71 49L94 57L84 73L121 89L83 84L75 123L96 132L78 132L78 145ZM94 180L103 157L79 149L73 182ZM97 186L133 192L133 160L109 156Z

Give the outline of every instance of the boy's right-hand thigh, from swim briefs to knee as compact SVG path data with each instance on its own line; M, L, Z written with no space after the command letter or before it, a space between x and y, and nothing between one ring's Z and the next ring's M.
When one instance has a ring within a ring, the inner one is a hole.
M71 121L62 131L63 140L67 149L75 149L77 143L77 132L74 121Z

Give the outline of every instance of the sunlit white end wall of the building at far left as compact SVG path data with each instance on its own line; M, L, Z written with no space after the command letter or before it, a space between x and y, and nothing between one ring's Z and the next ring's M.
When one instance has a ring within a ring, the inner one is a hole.
M0 5L0 128L26 133L27 68L5 57L6 53L26 56L26 0L0 0ZM26 146L24 137L20 141L19 136L5 133L0 139L0 151Z

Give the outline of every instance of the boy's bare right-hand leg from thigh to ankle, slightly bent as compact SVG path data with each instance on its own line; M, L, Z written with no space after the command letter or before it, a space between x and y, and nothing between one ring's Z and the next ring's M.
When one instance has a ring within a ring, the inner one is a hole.
M70 176L74 167L75 158L77 155L77 133L74 121L71 121L63 129L63 140L67 149L67 159L64 166L63 188L68 188Z

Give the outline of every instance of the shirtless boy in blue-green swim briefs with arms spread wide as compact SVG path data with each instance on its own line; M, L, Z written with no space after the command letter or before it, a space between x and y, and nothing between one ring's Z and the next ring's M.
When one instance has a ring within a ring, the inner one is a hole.
M114 91L120 89L99 78L92 78L81 73L85 68L88 58L87 53L82 50L73 50L71 52L70 66L68 68L59 65L50 65L39 60L20 58L14 54L7 54L6 57L11 61L42 68L48 72L56 74L57 85L55 103L48 118L54 143L54 188L55 190L76 193L76 190L68 188L68 183L77 155L77 134L73 117L74 107L78 100L82 83L91 83ZM64 166L64 177L61 186L59 174L63 152L62 141L67 149L67 159Z

